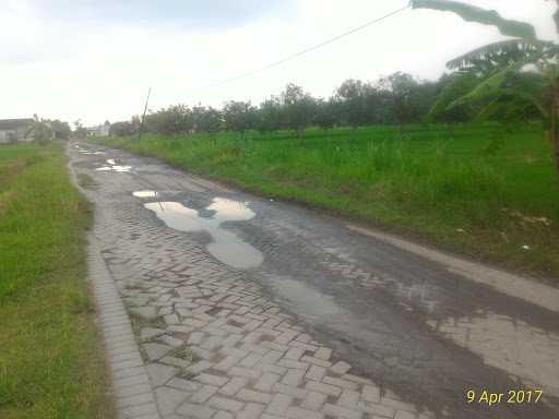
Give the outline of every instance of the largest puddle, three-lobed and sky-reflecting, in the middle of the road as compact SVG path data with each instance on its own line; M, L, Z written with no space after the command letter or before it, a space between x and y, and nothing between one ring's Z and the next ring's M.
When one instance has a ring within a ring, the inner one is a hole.
M203 217L198 211L179 202L153 202L144 206L176 230L207 231L213 240L206 246L207 251L229 266L251 268L260 266L263 262L260 251L221 227L222 223L243 222L254 217L255 214L246 203L216 197L205 208L212 213L210 217Z

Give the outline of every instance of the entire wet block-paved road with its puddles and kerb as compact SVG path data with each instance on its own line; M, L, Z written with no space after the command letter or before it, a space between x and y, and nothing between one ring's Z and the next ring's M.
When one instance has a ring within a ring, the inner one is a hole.
M91 276L122 418L558 417L552 307L154 159L69 154L92 179ZM544 394L466 403L519 388Z

